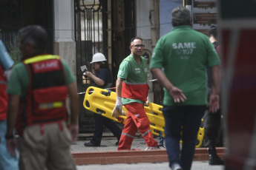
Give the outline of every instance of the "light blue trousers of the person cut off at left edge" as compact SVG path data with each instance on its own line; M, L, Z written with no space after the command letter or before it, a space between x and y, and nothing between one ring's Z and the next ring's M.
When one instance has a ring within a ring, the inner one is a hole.
M7 141L4 135L7 131L7 121L0 120L0 169L1 170L18 170L19 169L19 156L13 157L7 151Z

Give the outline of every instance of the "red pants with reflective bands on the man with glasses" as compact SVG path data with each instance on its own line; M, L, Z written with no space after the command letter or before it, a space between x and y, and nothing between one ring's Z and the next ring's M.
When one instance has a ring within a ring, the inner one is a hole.
M125 120L125 126L122 129L122 135L119 140L117 150L131 149L131 143L134 140L136 132L139 130L140 134L145 140L147 146L158 146L154 140L149 129L148 116L145 114L144 106L141 103L128 103L125 104L128 113Z

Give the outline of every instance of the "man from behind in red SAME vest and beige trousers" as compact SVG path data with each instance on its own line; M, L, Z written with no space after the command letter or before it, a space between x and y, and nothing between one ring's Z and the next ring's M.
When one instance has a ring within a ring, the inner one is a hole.
M76 169L69 149L78 134L76 78L59 56L45 54L43 27L24 27L18 36L23 57L13 67L7 86L7 150L16 156L16 126L20 169ZM68 95L70 125L65 107Z

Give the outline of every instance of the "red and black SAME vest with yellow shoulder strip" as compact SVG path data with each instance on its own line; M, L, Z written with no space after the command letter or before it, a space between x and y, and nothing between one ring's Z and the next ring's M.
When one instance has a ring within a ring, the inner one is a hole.
M65 100L68 88L59 56L40 55L28 58L24 65L30 76L30 84L19 108L19 134L22 134L25 126L67 120Z

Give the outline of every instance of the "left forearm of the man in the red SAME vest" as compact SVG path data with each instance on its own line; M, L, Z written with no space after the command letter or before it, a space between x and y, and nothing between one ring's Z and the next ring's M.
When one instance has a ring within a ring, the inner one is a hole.
M19 96L9 95L7 106L7 135L13 135L13 129L19 112Z

